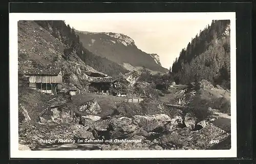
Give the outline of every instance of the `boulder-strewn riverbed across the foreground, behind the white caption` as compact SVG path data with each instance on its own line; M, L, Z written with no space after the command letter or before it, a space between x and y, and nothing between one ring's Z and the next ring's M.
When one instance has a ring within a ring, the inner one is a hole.
M196 123L189 113L172 118L165 114L115 115L104 119L88 115L75 121L67 117L69 113L62 113L55 111L51 119L41 118L35 125L20 124L20 149L25 150L26 145L31 150L195 150L208 149L215 145L212 140L221 142L230 135L210 119ZM139 142L127 142L131 140Z

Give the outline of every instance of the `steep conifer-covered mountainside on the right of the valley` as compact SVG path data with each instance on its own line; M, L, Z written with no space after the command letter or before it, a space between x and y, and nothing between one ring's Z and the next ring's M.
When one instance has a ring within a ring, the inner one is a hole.
M212 20L181 50L172 73L176 83L206 79L230 89L230 20Z

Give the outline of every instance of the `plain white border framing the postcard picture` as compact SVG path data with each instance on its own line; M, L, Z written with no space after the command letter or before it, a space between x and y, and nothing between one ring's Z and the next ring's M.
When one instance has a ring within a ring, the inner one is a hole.
M110 151L19 151L18 150L18 20L230 20L230 150L110 150ZM10 13L10 158L222 158L237 157L236 104L236 13Z

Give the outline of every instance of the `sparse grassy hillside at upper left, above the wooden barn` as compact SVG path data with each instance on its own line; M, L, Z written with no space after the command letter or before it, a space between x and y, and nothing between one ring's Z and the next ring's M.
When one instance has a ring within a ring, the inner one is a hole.
M18 21L18 49L26 51L26 55L19 52L20 61L37 61L47 65L53 63L53 58L61 56L65 45L54 38L49 32L42 29L34 21ZM21 69L28 69L22 63Z

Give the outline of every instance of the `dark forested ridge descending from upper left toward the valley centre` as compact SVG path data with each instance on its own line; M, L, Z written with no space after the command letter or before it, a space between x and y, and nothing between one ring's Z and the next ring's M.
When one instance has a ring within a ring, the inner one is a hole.
M79 36L75 29L71 29L69 25L62 20L44 20L35 21L42 28L48 30L54 37L58 38L62 43L67 45L63 50L63 58L70 59L71 52L74 50L77 56L87 65L94 69L106 73L110 76L116 76L120 72L127 73L128 71L122 66L99 56L96 56L88 49L84 48L80 42Z

